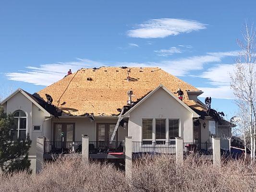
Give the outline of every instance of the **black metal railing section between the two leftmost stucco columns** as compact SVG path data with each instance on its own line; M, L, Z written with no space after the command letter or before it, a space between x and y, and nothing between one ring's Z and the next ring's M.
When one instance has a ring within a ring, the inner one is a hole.
M82 142L61 142L61 141L46 141L44 143L45 154L70 154L82 153Z

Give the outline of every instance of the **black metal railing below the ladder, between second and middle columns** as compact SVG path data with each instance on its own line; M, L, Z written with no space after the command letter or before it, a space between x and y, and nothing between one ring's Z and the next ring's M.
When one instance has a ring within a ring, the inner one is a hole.
M124 142L89 141L90 154L124 153Z

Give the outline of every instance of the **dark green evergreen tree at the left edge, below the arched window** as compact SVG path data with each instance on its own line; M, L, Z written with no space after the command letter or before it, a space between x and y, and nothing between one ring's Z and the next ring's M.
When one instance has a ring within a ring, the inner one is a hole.
M3 172L28 171L30 160L28 151L31 146L29 135L25 139L12 141L11 129L14 125L12 114L6 114L0 107L0 168Z

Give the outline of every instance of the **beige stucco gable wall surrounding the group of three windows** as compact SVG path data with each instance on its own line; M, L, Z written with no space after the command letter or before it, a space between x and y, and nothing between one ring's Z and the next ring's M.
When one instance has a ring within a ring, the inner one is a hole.
M192 113L163 89L158 89L130 113L128 135L133 137L133 141L142 141L143 118L179 119L180 136L184 142L193 142Z

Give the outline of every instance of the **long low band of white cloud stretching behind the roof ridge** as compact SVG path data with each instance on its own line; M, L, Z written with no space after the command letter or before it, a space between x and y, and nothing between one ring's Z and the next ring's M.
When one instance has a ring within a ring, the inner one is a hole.
M73 62L58 62L43 64L39 67L28 66L25 71L9 72L5 75L13 81L26 82L36 85L49 85L62 79L69 69L73 72L81 68L93 68L100 66L129 66L129 67L160 67L161 69L175 75L190 75L194 71L202 71L207 64L213 67L202 72L197 78L203 78L209 86L198 87L204 91L201 96L212 96L214 98L233 98L229 88L229 72L233 71L233 64L220 63L224 57L230 57L231 52L219 52L219 54L206 54L182 58L178 60L163 60L159 62L99 62L95 60L79 59Z

